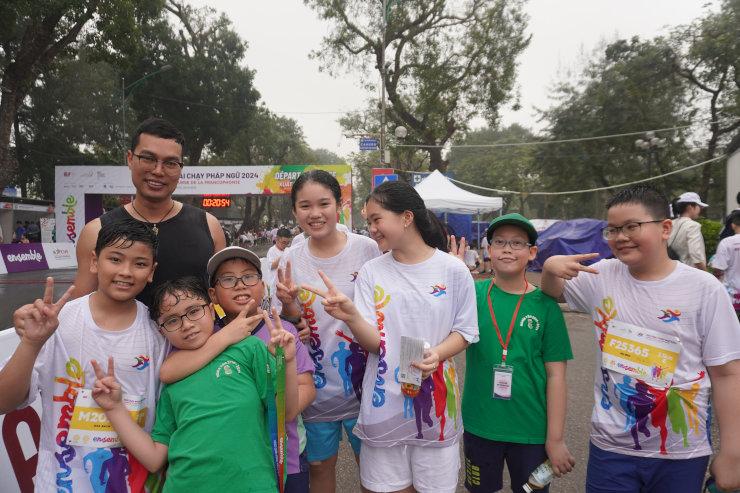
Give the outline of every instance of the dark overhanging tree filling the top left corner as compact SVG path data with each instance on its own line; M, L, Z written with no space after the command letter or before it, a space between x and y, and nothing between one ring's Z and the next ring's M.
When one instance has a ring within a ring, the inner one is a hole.
M135 51L141 26L160 8L159 1L145 0L0 3L0 188L16 176L10 147L16 113L45 67L84 46L108 54Z

